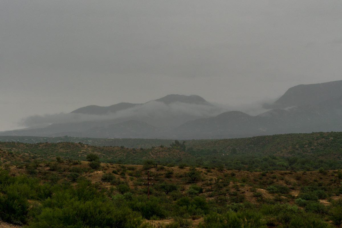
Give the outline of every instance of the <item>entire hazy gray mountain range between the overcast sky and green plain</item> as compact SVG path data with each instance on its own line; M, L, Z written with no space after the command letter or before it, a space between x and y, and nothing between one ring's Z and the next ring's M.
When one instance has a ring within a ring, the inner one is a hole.
M172 94L144 104L87 106L65 115L98 119L0 135L209 139L342 131L342 81L294 86L268 107L273 109L250 116L224 112L200 96Z

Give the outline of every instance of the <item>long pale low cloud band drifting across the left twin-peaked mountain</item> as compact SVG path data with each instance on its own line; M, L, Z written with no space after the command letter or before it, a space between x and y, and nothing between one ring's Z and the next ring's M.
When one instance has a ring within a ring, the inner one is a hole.
M223 111L223 107L186 104L181 102L166 105L162 102L150 101L145 104L137 105L133 108L108 113L107 115L88 115L82 113L55 113L52 115L34 115L22 119L19 124L25 127L35 127L43 124L61 124L61 123L77 123L84 121L106 121L106 120L142 120L150 122L156 121L153 125L164 124L164 126L172 125L171 119L182 117L184 120L198 119L205 117L217 116Z

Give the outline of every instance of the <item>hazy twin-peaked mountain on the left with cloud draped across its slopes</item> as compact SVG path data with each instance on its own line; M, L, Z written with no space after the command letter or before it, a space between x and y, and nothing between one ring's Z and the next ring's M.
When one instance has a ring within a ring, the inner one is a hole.
M144 104L90 105L66 113L67 122L0 132L0 135L165 138L172 132L170 128L220 112L220 108L200 96L171 94Z

